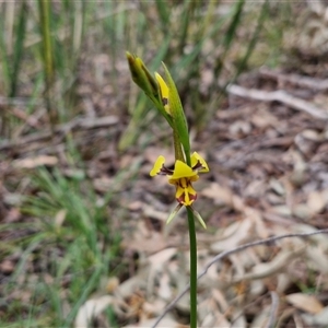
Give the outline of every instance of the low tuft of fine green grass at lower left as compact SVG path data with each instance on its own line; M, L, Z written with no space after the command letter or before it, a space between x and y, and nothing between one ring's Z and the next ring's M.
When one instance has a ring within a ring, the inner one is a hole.
M38 169L33 186L36 195L25 197L22 212L38 219L31 225L31 236L7 245L8 254L22 255L5 285L8 294L20 290L32 300L26 304L11 302L4 319L10 321L19 313L24 327L69 327L90 293L99 288L101 278L117 270L112 262L118 256L120 237L106 212L112 196L108 192L97 204L93 187L82 175L67 178L58 169ZM40 268L34 285L28 281L31 273L23 279L31 261ZM65 281L68 285L63 293Z

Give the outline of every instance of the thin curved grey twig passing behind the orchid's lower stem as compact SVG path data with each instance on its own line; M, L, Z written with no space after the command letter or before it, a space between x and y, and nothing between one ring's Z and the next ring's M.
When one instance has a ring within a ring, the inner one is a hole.
M214 265L215 262L222 260L223 258L238 253L241 250L245 250L249 247L254 247L254 246L259 246L259 245L266 245L266 244L271 244L273 242L280 241L280 239L284 239L284 238L292 238L292 237L298 237L298 238L306 238L313 235L318 235L318 234L328 234L328 229L324 229L324 230L318 230L315 232L311 232L311 233L295 233L295 234L286 234L286 235L281 235L281 236L274 236L274 237L270 237L270 238L266 238L266 239L261 239L261 241L256 241L253 243L247 243L244 245L241 245L238 247L235 247L233 249L230 250L225 250L222 251L221 254L216 255L203 269L203 271L201 273L199 273L197 276L197 279L202 278L204 274L207 274L208 270L210 269L210 267L212 265ZM166 308L164 309L164 312L161 314L161 316L156 319L156 321L154 323L154 325L152 326L152 328L155 328L160 321L164 318L164 316L175 306L175 304L188 292L190 288L190 284L186 285L185 289L166 306ZM272 304L273 306L273 304ZM278 306L278 305L277 305ZM269 320L270 323L270 320Z

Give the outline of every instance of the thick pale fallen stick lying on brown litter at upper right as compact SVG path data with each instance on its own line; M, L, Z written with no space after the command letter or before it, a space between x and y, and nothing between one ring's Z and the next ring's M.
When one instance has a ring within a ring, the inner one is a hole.
M294 109L303 110L316 118L328 119L328 113L325 113L321 108L303 99L296 98L283 90L269 92L256 89L245 89L236 84L231 84L226 87L226 91L231 94L256 101L280 102Z

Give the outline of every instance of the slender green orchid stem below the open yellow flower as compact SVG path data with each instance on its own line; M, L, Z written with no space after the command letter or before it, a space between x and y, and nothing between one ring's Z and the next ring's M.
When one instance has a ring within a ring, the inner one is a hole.
M197 328L197 239L192 210L186 207L190 243L190 328Z

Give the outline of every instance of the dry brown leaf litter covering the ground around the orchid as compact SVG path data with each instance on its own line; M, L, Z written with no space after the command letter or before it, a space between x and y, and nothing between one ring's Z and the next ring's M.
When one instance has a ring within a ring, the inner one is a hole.
M106 56L98 59L104 62ZM102 69L106 70L106 66ZM325 87L313 87L312 81L315 85L327 84L325 75L304 77L282 70L260 69L242 75L236 82L239 89L229 90L223 108L218 108L208 128L194 141L194 150L202 152L211 169L196 185L199 200L195 206L208 225L208 231L198 231L199 272L215 255L245 243L328 227L327 94ZM99 83L104 82L95 85ZM97 192L104 195L112 188L117 195L109 207L116 215L122 215L122 222L116 224L122 234L124 257L132 262L128 274L117 277L114 285L108 279L107 288L99 286L99 295L91 296L80 307L75 327L87 327L95 317L98 326L105 327L102 312L109 305L120 323L133 323L125 327L152 327L154 318L188 283L186 214L179 213L166 225L167 213L175 207L174 192L161 178L154 183L149 177L159 153L173 162L166 140L159 142L162 131L150 127L154 133L149 140L153 144L143 151L141 138L133 150L121 156L116 148L124 128L120 114L113 109L115 104L107 107L112 89L101 86L92 86L89 79L83 84L82 79L80 105L86 117L102 116L107 120L81 120L59 127L55 148L45 147L49 136L42 132L34 139L23 137L21 143L1 144L7 152L13 147L15 160L8 157L0 163L0 181L22 183L10 191L0 185L0 221L26 220L17 212L20 195L32 192L25 187L28 183L23 172L39 165L59 165L65 172L68 160L60 134L72 132ZM284 93L272 97L280 90ZM122 101L124 95L117 99ZM309 110L304 110L308 104ZM122 176L114 185L121 169ZM125 212L116 212L117 209ZM55 216L58 226L65 220L65 211ZM21 230L14 234L31 233ZM14 237L4 232L0 235L3 242ZM227 256L199 280L199 326L268 327L273 300L278 297L276 327L327 327L327 235L316 235L285 238ZM138 263L133 262L134 255ZM19 256L1 259L2 281L13 272ZM25 291L9 298L19 297L27 300L31 293ZM160 327L188 327L188 297L184 296Z

